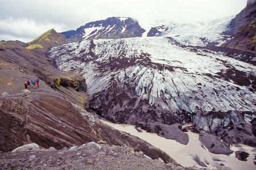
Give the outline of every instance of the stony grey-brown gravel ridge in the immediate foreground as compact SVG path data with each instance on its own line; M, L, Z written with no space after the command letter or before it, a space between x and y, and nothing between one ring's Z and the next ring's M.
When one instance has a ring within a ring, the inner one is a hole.
M100 143L105 143L101 141ZM28 148L28 147L26 147ZM95 142L81 146L28 148L24 151L0 154L3 169L198 169L165 164L162 159L151 159L129 146L111 146ZM225 169L225 167L222 167Z

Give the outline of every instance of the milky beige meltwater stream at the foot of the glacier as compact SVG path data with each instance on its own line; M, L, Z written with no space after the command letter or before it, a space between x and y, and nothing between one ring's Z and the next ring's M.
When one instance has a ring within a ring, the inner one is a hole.
M101 121L117 130L125 131L126 133L130 133L131 135L137 136L144 141L147 141L152 146L155 146L166 152L168 155L174 158L177 163L183 165L184 167L193 165L196 167L202 167L195 161L196 158L199 158L200 161L207 165L208 168L218 168L221 166L220 164L224 164L226 167L232 168L234 170L256 168L253 163L254 155L256 155L256 149L254 147L246 145L240 145L241 147L230 147L230 149L233 151L244 150L250 154L247 158L247 162L244 162L238 160L235 157L235 152L229 156L210 153L207 148L201 147L203 144L199 141L199 134L192 133L191 131L187 132L189 135L188 145L182 145L174 140L159 137L157 134L147 133L145 130L142 130L140 133L135 129L135 126L133 125L113 124L112 122L105 120Z

